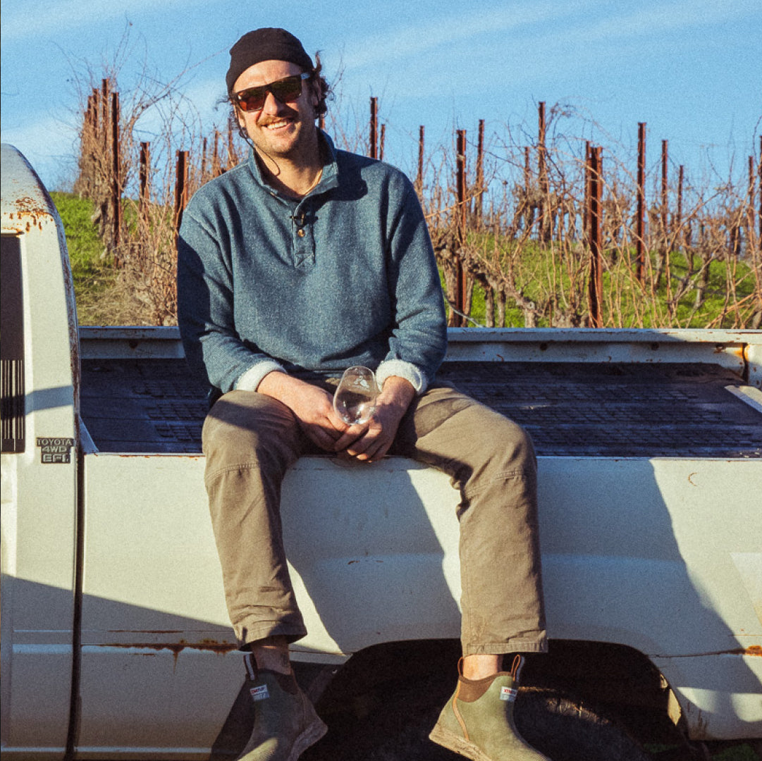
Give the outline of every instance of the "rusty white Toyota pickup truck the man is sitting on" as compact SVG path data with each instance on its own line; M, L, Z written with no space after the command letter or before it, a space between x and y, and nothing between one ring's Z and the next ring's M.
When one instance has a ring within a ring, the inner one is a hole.
M235 753L204 389L174 328L78 328L59 216L8 145L0 345L3 757ZM551 649L530 683L625 722L648 707L691 740L762 737L762 334L456 329L442 375L536 442ZM447 695L457 500L402 458L293 467L293 658L315 698L354 669L350 703L373 713L357 685L413 662Z

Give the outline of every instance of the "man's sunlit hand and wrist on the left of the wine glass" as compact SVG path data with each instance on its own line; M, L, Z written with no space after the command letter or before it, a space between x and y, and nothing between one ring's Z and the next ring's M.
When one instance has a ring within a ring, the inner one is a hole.
M333 396L311 383L286 373L268 373L257 391L290 408L307 438L326 452L334 452L335 443L349 429L334 411Z

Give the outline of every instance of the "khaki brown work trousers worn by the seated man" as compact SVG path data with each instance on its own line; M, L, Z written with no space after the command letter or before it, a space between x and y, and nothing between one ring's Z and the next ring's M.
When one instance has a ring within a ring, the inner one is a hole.
M296 641L306 629L283 552L280 484L299 456L320 450L284 404L234 391L208 414L203 451L239 645L271 635ZM536 459L527 433L453 388L434 386L411 404L391 453L446 472L461 493L463 654L544 651Z

